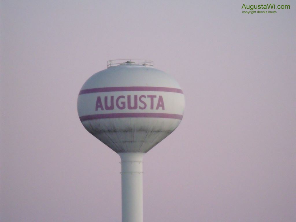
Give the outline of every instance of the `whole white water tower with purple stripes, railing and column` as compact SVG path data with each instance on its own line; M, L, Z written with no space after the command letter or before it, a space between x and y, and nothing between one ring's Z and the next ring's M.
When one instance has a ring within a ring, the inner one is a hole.
M122 221L143 221L143 156L183 118L177 81L151 61L110 60L82 86L81 123L121 158Z

